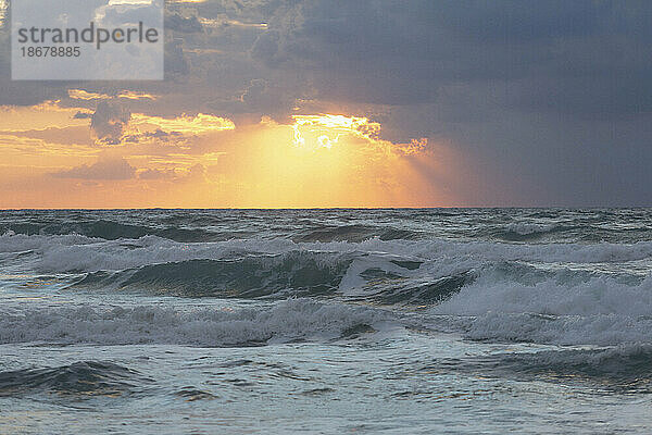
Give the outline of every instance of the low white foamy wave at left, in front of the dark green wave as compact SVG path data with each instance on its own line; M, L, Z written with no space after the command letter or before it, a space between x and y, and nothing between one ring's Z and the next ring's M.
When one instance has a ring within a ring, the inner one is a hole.
M1 313L0 343L242 347L347 338L387 322L385 311L306 299L238 310L43 308Z

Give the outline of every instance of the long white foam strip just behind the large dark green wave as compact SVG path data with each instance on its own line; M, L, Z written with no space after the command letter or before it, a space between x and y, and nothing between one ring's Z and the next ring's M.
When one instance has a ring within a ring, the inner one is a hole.
M222 259L237 253L283 253L290 250L334 253L380 253L437 261L441 268L481 268L487 262L524 261L603 263L652 258L652 243L513 245L489 241L379 240L362 243L293 243L288 239L248 239L216 243L176 243L156 236L102 240L84 236L0 236L0 252L36 251L33 266L47 272L123 270L195 259ZM27 264L29 265L29 264Z

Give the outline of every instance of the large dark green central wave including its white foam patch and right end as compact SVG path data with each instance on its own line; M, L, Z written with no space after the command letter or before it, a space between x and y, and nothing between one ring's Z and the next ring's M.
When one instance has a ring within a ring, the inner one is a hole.
M474 279L419 274L423 263L383 253L288 251L224 260L187 260L84 274L73 290L178 297L288 298L344 296L381 304L440 302Z

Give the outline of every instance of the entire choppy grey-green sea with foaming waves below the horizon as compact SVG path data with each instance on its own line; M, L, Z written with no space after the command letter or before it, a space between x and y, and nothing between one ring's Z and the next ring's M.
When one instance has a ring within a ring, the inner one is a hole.
M652 432L651 209L0 212L0 433Z

